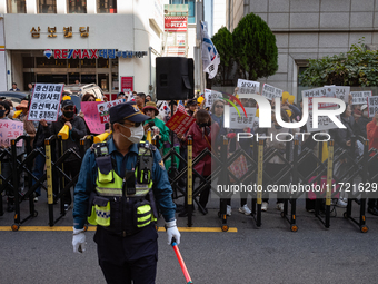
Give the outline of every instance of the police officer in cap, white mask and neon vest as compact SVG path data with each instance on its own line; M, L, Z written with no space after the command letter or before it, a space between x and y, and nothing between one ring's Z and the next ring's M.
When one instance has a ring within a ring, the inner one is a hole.
M160 209L168 234L180 242L172 189L159 151L140 143L149 119L133 101L109 109L112 138L88 149L74 188L73 252L84 251L88 218L107 283L155 283Z

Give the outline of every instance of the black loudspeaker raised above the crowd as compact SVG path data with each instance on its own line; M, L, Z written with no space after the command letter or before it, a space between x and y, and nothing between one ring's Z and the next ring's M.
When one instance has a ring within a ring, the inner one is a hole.
M186 100L195 97L195 63L191 58L157 57L156 85L159 100Z

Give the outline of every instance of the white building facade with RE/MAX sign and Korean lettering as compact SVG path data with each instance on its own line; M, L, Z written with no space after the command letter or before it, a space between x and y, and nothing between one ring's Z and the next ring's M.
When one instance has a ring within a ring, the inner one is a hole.
M110 99L121 90L153 95L168 3L0 0L0 90L13 81L27 90L28 82L79 80L96 82Z

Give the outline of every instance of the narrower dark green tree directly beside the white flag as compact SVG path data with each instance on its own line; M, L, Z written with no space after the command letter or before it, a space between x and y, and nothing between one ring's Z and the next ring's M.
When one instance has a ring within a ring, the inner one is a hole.
M218 76L222 86L227 85L233 66L233 41L231 32L226 28L218 30L211 38L220 57L220 65L218 66Z

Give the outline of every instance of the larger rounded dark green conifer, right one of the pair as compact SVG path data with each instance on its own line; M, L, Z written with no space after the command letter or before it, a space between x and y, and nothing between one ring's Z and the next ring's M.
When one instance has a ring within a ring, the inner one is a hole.
M259 16L249 13L243 17L232 38L233 55L242 78L257 80L277 71L276 36Z

